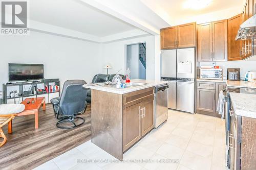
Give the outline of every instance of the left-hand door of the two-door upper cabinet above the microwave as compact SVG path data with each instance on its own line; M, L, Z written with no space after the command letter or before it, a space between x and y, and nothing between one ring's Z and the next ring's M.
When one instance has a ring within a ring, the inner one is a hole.
M198 61L211 61L212 23L198 25Z

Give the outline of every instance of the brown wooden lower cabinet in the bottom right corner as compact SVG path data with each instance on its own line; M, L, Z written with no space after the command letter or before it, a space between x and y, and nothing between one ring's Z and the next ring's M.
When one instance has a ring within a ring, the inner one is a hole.
M256 169L256 119L233 113L230 118L230 170Z

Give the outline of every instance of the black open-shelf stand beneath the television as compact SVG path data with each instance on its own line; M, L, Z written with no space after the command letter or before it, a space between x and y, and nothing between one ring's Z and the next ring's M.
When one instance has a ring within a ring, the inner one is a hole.
M15 100L15 99L22 99L20 102L24 101L26 98L39 98L41 96L46 96L48 98L48 100L46 99L46 103L50 103L51 100L51 96L53 95L57 95L60 96L60 81L59 79L48 79L49 81L37 81L37 82L16 82L16 83L6 83L3 84L3 104L8 104L8 101ZM42 84L42 85L40 85ZM26 86L29 85L29 89L26 89ZM15 88L18 91L18 96L15 96L13 98L11 98L10 96L10 92ZM38 86L42 86L42 87L48 87L48 91L39 91ZM55 91L51 91L50 90L50 86L58 86L58 89ZM10 87L10 89L8 89ZM32 94L28 94L28 95L20 95L23 94L24 91L28 91L31 90Z

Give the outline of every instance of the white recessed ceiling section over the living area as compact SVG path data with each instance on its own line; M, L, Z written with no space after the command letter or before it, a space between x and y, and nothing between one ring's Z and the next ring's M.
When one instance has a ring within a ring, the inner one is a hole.
M138 29L79 0L30 1L30 19L98 37Z

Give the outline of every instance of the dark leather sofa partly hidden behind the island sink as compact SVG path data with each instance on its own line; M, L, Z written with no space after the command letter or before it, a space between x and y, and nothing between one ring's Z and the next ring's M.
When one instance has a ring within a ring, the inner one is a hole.
M116 74L112 74L112 75L105 75L105 74L97 74L93 77L92 83L104 83L107 81L111 81L113 80L114 76ZM125 76L120 75L122 77L123 80L125 80ZM91 89L88 89L87 91L87 98L86 98L87 103L91 103Z

